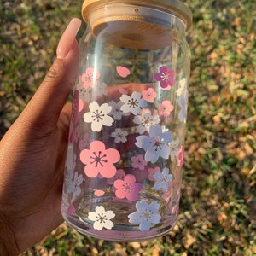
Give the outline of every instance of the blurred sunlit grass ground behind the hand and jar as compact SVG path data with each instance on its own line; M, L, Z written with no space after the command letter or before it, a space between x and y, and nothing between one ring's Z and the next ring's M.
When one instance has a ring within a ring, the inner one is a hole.
M256 255L256 2L183 2L194 26L188 32L189 120L174 230L153 241L113 243L61 224L22 255ZM44 79L81 5L1 0L0 138Z

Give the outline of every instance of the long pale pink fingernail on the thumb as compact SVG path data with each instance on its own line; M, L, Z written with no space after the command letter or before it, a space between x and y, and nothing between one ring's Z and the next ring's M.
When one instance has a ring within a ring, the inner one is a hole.
M61 36L58 47L56 49L56 55L58 59L64 59L67 56L72 47L73 40L79 32L80 26L81 20L77 18L74 18L69 22L65 32L63 32Z

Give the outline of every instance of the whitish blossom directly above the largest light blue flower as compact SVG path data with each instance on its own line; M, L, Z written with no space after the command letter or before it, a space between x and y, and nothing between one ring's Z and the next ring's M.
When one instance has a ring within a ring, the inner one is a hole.
M149 131L151 125L157 125L160 123L159 116L152 115L148 108L143 108L141 114L134 117L133 122L137 124L137 132L143 134L145 131Z

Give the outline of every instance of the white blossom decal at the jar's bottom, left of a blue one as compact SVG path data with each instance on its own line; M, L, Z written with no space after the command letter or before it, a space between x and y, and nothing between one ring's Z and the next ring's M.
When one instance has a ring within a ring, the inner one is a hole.
M96 207L95 212L89 212L88 218L94 222L93 228L95 230L107 229L111 230L113 228L113 222L110 220L115 217L113 211L106 211L104 207Z

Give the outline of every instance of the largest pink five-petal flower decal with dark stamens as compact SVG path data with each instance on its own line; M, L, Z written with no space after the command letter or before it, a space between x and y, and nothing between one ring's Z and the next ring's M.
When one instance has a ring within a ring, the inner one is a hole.
M85 164L84 172L88 177L113 177L116 167L113 165L120 160L119 151L114 148L105 148L100 141L90 143L90 149L84 149L80 153L80 160Z

